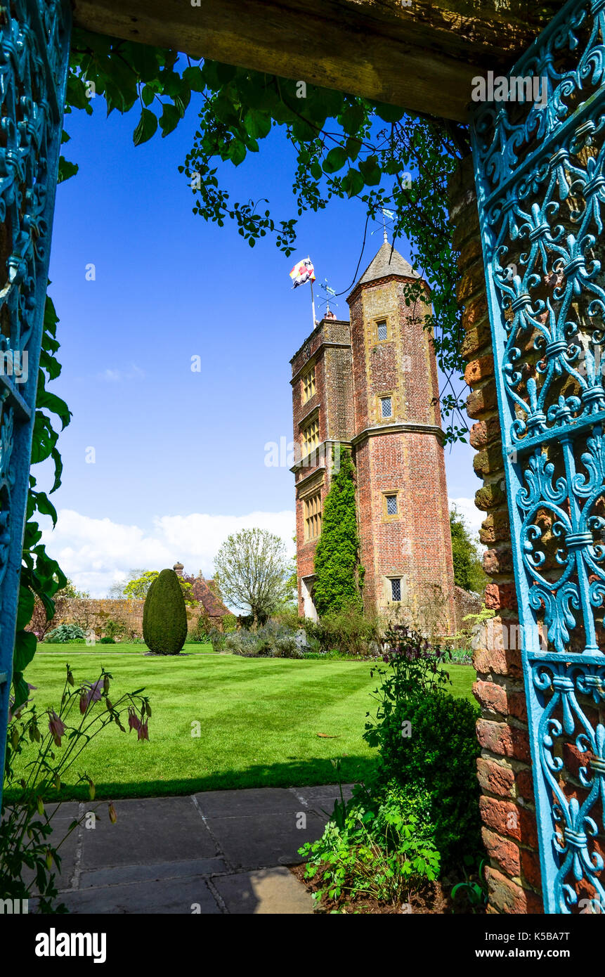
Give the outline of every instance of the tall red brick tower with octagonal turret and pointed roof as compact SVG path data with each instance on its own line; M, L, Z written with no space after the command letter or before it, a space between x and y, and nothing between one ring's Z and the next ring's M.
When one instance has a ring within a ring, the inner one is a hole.
M315 616L314 557L334 446L357 469L364 603L403 606L454 630L454 569L437 364L417 276L386 240L347 302L350 322L323 319L291 360L299 610ZM433 403L435 401L435 403Z

